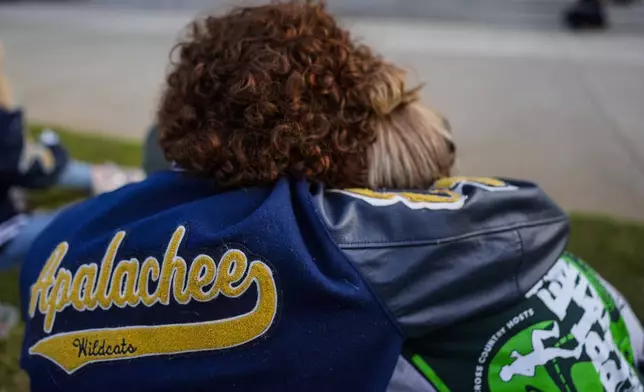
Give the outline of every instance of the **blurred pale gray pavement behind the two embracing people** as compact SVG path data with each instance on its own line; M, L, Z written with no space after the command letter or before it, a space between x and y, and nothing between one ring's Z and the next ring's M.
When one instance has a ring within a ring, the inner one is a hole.
M141 138L193 14L0 7L0 39L31 119ZM644 35L343 22L427 83L461 173L527 178L567 209L644 219Z

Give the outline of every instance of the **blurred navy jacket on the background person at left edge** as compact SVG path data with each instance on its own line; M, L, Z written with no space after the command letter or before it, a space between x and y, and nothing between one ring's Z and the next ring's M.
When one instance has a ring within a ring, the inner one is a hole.
M0 173L6 182L23 188L47 188L56 183L68 163L66 150L53 132L38 142L25 139L20 110L0 110Z

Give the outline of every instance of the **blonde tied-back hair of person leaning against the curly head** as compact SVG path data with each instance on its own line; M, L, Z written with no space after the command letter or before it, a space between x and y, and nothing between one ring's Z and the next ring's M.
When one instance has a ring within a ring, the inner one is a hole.
M386 64L370 91L376 140L368 158L368 184L378 188L428 188L451 174L455 147L449 124L405 90L405 72Z

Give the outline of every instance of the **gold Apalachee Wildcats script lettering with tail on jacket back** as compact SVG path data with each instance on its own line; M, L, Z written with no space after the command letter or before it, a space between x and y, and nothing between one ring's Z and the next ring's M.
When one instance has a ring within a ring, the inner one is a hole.
M167 355L235 347L262 336L277 313L277 287L271 268L260 260L249 262L239 249L230 249L219 262L208 255L196 256L188 268L178 255L185 235L179 226L168 244L163 261L149 256L143 263L136 258L114 266L125 232L110 242L103 260L83 264L72 274L61 268L69 244L59 244L31 286L29 315L44 316L43 330L49 334L56 315L72 306L75 311L101 307L168 305L170 297L178 304L192 300L207 302L219 295L237 298L251 286L257 289L257 302L248 313L221 320L198 323L136 325L59 333L46 337L29 349L56 363L71 374L81 367L151 355ZM149 282L158 282L154 292Z

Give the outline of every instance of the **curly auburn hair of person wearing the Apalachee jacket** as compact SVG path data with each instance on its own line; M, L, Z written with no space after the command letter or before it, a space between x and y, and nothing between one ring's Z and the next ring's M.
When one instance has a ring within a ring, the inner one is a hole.
M282 175L366 187L373 119L413 101L404 84L374 85L393 67L353 42L320 4L208 16L175 49L158 111L161 147L222 187ZM383 95L395 103L374 102Z

